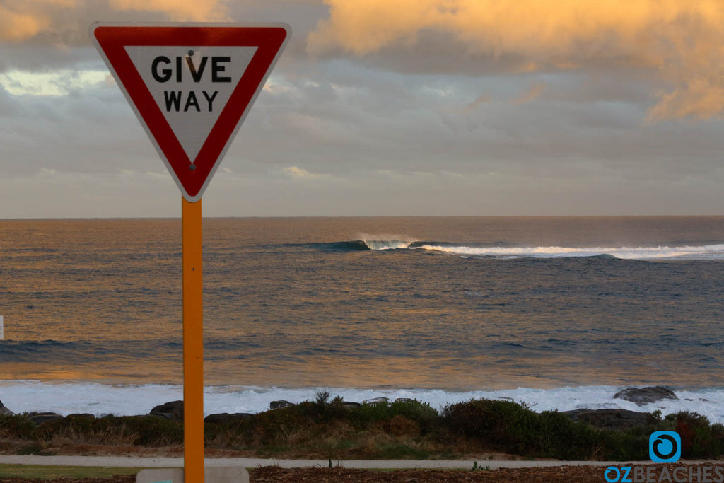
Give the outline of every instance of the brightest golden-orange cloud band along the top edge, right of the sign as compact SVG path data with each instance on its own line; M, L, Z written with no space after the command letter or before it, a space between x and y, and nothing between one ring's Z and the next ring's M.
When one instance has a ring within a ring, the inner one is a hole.
M421 30L432 29L450 31L471 50L492 54L550 57L588 50L605 55L602 47L631 41L642 28L678 14L678 9L663 6L665 0L325 1L329 19L309 36L311 50L341 47L353 54L414 43Z

